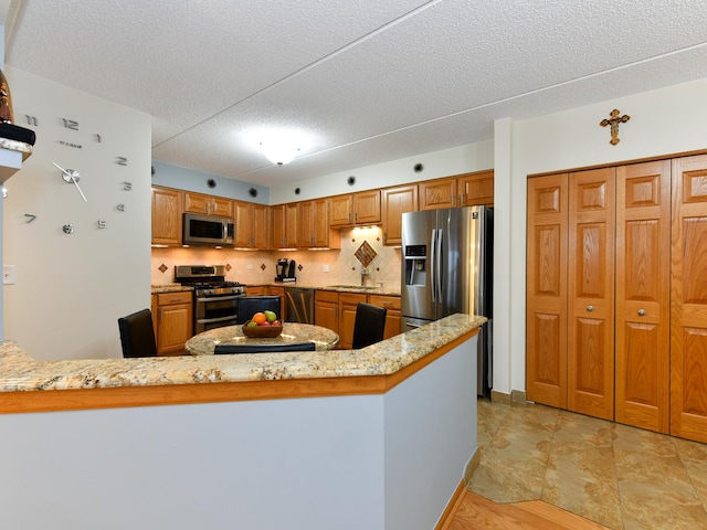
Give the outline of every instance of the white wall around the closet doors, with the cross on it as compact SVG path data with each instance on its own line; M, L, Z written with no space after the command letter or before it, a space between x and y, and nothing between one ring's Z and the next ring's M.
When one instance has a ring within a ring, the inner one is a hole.
M505 216L503 223L513 230L496 240L503 250L496 257L509 264L509 276L496 280L510 290L508 300L495 300L494 307L496 322L508 319L507 337L499 338L498 324L495 327L495 361L496 356L504 361L495 363L495 390L525 390L527 176L707 149L705 102L707 80L700 80L513 124L511 141L497 146L496 152L497 160L509 156L511 168L508 208L497 202L495 218L498 222ZM621 141L611 146L609 128L599 123L614 108L631 120L621 125ZM509 372L498 370L506 360Z

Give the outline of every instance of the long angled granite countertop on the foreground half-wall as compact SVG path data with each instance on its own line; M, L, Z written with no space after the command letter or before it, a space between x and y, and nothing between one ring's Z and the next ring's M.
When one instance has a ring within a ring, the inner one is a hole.
M0 342L0 392L388 375L474 330L485 317L456 314L361 350L239 356L36 361Z

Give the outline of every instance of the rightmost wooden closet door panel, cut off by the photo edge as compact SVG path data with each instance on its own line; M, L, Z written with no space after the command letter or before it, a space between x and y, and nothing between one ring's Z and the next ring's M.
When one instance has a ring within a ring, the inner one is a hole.
M707 156L673 160L671 434L707 442Z

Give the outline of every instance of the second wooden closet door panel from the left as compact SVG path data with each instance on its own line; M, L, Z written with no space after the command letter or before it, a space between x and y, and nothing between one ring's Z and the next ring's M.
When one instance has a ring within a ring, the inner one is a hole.
M614 417L615 169L569 176L568 409Z

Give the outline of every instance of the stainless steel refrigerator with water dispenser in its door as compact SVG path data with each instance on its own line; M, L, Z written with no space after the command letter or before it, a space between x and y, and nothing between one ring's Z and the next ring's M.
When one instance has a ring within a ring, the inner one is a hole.
M401 330L454 312L487 317L478 333L478 395L493 384L493 234L488 206L402 214Z

